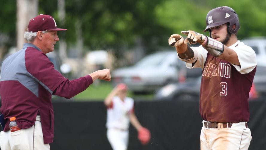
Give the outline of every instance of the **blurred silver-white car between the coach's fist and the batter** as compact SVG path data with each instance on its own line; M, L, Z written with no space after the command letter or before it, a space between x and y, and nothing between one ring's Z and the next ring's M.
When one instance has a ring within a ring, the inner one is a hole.
M115 86L123 82L134 93L153 92L169 82L183 80L186 77L185 67L185 62L178 59L174 50L156 52L132 67L113 70L112 83Z

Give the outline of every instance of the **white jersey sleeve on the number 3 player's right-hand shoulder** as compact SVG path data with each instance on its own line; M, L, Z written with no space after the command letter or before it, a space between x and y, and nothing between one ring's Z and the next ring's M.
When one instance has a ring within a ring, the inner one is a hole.
M239 73L250 73L250 71L252 71L256 67L256 54L250 46L239 44L236 47L230 48L233 49L237 54L240 66L232 63L231 64L235 67L236 70L238 70Z

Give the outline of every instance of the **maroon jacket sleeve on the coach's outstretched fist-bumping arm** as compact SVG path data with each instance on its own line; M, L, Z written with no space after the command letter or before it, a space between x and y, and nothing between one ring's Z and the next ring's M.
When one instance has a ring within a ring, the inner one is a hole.
M72 98L93 82L89 75L74 80L66 79L54 69L54 64L49 58L38 50L32 50L28 55L25 54L25 65L36 81L53 95Z

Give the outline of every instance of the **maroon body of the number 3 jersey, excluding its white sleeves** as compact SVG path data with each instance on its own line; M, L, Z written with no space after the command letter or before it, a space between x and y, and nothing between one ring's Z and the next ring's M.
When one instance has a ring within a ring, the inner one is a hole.
M207 54L200 86L200 114L210 122L247 122L248 97L256 67L241 74L227 61Z

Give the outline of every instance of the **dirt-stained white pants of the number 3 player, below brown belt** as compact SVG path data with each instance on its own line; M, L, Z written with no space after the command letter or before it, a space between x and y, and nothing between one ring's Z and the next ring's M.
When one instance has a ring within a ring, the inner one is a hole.
M201 150L247 150L251 141L251 132L246 122L233 123L231 128L205 128L200 134Z

